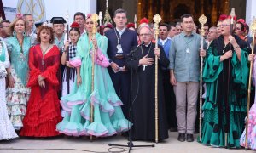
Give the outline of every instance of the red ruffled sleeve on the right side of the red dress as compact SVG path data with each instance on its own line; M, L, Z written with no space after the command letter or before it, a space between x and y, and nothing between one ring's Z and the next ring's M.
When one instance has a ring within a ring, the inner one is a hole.
M58 78L57 78L57 71L59 69L60 65L60 50L55 46L53 49L55 49L53 63L54 65L48 66L46 70L41 74L42 77L45 78L45 80L49 83L52 83L53 85L57 86L59 84Z

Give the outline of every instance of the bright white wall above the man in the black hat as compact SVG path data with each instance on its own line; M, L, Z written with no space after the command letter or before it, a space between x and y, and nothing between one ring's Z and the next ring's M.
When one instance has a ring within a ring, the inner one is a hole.
M73 14L82 12L96 13L96 0L44 0L46 9L46 20L50 20L54 16L69 15L69 24L73 23Z

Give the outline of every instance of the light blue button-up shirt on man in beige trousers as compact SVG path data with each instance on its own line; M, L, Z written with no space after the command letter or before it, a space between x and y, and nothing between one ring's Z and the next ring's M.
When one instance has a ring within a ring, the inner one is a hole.
M200 77L201 35L192 32L190 36L184 32L172 38L169 52L170 66L177 82L198 82ZM207 48L204 41L204 48Z

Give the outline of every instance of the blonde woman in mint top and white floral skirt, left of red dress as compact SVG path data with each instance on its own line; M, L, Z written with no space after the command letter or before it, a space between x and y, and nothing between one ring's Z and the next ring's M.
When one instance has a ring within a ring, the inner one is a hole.
M16 14L15 20L9 26L9 34L11 37L6 40L10 58L10 66L7 69L6 103L15 130L20 130L23 127L22 120L26 114L26 103L30 94L26 81L28 52L32 46L31 38L26 36L26 21L22 14Z

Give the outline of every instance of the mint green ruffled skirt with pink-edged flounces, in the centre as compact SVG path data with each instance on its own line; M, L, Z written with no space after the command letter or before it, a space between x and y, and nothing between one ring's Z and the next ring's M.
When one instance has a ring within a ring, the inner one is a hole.
M88 67L88 69L91 69ZM90 92L91 80L82 77L82 84L75 84L73 92L61 98L61 106L66 116L57 125L57 130L69 136L108 137L129 130L130 122L125 119L120 105L123 105L115 93L108 70L95 65L94 91ZM82 71L81 76L90 72ZM75 81L76 82L76 81ZM90 105L94 108L94 120L90 122Z

